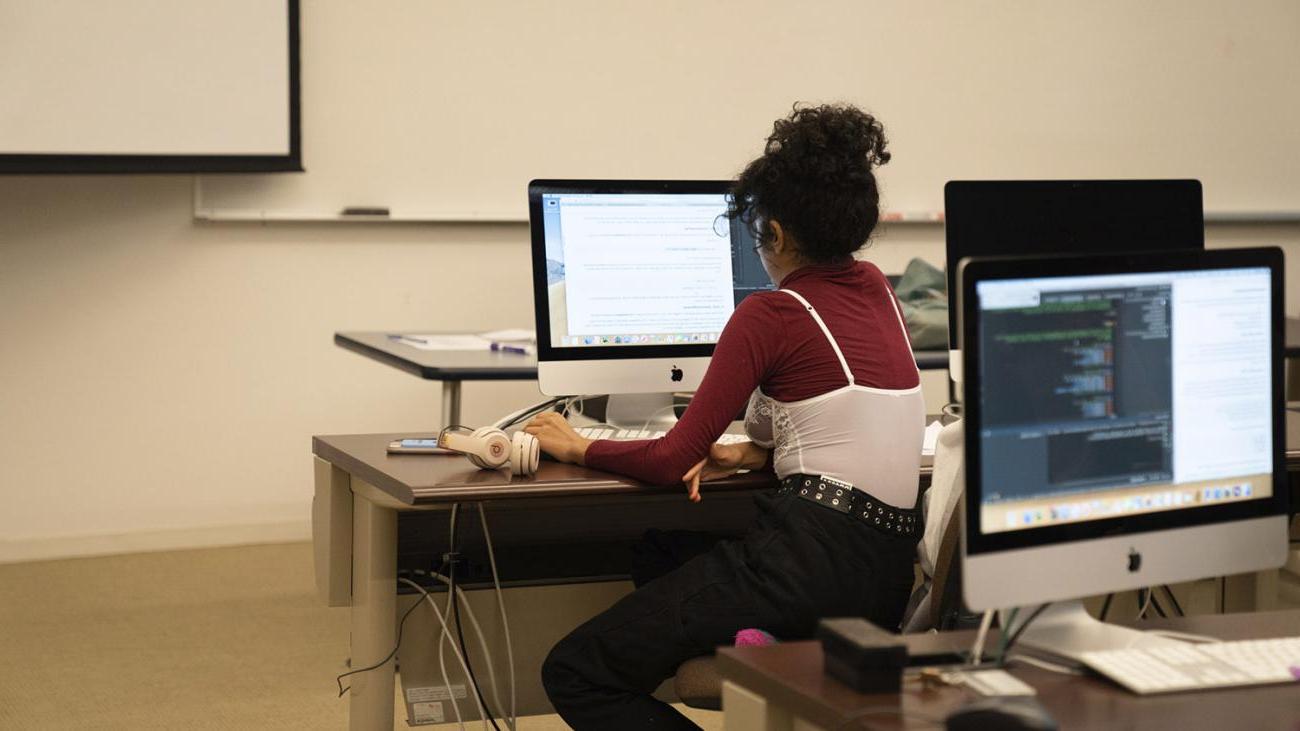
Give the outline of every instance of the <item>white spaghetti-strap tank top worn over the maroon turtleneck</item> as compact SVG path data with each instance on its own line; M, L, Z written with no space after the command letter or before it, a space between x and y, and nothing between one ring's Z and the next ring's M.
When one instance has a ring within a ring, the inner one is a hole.
M824 475L849 483L901 509L916 505L920 445L926 432L926 401L920 384L890 390L859 386L829 328L798 293L800 300L822 328L848 384L802 401L776 401L754 390L745 412L745 432L754 444L772 450L777 477ZM889 293L898 315L893 293ZM898 315L906 338L907 328Z

